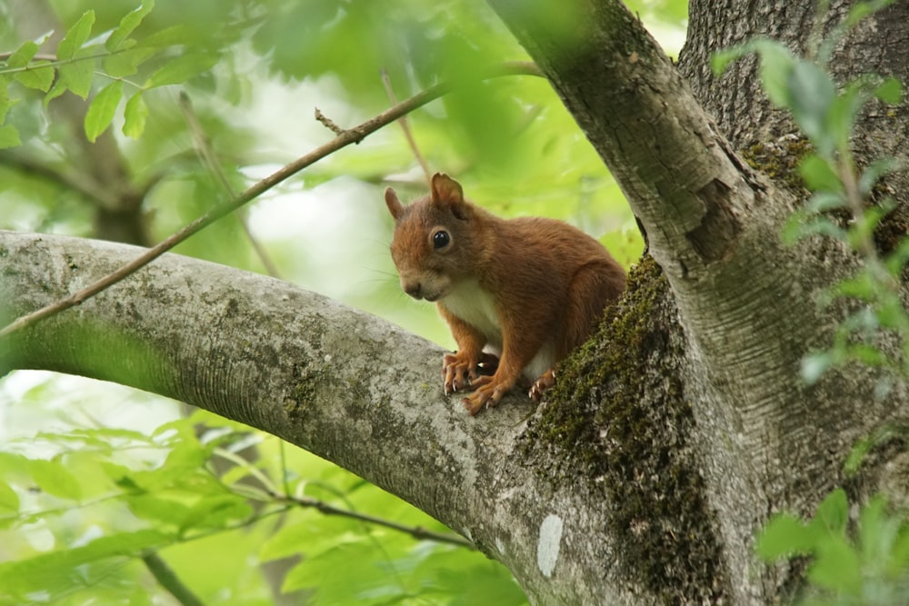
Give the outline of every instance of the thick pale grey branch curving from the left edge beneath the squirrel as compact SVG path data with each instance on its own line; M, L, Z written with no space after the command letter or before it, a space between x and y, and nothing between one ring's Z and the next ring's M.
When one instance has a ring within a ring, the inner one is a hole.
M0 232L0 321L135 253ZM613 566L621 554L593 480L552 492L525 460L532 403L515 394L472 418L438 384L441 359L437 346L318 294L178 255L0 342L0 374L45 369L132 385L336 462L503 561L538 603L646 595Z

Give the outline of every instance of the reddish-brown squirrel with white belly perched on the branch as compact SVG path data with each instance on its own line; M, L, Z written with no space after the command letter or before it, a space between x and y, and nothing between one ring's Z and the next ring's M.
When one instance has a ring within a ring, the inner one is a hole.
M391 253L402 290L435 302L457 343L443 359L445 395L473 390L464 406L474 416L524 375L538 402L555 382L555 364L623 292L624 269L569 224L497 217L464 200L447 174L436 173L430 189L405 205L389 187L385 204L395 218ZM493 374L480 374L496 363Z

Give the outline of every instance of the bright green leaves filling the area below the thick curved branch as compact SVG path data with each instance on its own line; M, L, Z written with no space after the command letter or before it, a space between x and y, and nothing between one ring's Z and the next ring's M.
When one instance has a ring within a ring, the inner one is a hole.
M39 385L29 398L47 389ZM261 455L255 462L239 455L251 446ZM315 604L455 603L468 591L449 571L470 578L469 591L523 603L508 572L472 551L336 513L381 511L447 533L334 465L277 452L285 448L206 412L152 432L71 427L8 442L0 452L0 536L16 557L0 563L0 604L133 603L145 591L142 558L152 552L205 603L268 603L249 564L282 558L296 561L283 591L311 591ZM200 552L208 554L202 561Z

